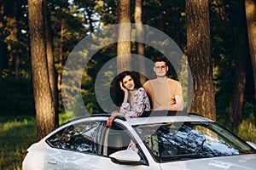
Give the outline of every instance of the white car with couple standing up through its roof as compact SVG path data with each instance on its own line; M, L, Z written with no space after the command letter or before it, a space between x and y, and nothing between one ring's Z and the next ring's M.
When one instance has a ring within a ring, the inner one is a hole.
M256 151L202 116L154 111L68 122L26 152L23 170L255 170ZM255 145L254 145L255 146Z

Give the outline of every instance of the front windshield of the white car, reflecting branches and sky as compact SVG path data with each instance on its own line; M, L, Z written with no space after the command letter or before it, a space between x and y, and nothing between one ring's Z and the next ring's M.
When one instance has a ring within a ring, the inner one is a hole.
M134 129L160 162L255 153L214 122L143 124Z

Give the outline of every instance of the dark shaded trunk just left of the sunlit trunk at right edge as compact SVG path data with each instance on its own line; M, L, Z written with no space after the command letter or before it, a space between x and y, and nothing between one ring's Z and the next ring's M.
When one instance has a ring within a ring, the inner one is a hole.
M236 77L232 99L230 101L230 123L238 125L241 122L242 106L246 86L246 56L247 56L247 28L245 20L244 3L237 2L231 6L231 16L236 46Z

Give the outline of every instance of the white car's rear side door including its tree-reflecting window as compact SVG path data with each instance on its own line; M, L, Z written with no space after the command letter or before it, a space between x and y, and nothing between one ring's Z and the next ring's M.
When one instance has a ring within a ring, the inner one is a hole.
M90 157L98 153L101 127L102 122L84 121L49 137L46 141L55 152L51 150L45 167L56 164L53 169L90 170Z

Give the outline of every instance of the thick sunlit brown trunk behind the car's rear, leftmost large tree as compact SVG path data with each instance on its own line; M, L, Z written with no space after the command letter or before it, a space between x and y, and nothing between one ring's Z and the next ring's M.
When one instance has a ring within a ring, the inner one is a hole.
M44 17L46 17L44 1L28 0L32 82L38 122L38 139L42 139L55 129L55 104L49 82Z

